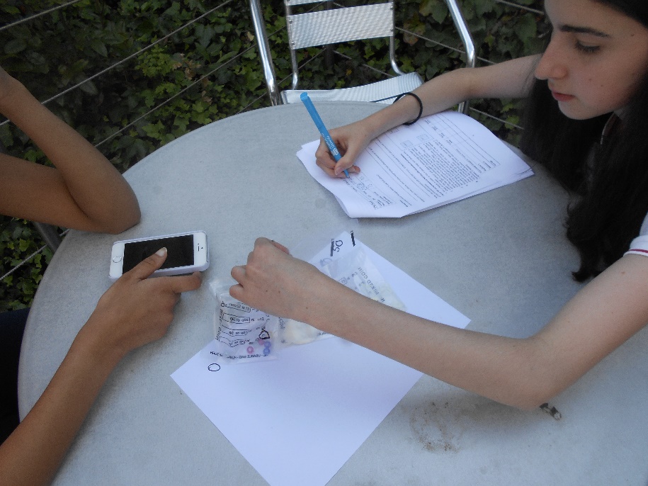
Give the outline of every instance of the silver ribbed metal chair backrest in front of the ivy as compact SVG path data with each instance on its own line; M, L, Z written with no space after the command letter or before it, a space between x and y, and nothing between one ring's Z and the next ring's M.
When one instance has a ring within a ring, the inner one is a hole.
M286 27L292 63L292 86L297 89L299 66L297 50L317 45L346 43L375 38L390 39L390 63L397 74L404 74L396 62L394 47L394 2L341 7L324 11L292 13L296 5L319 0L285 0Z

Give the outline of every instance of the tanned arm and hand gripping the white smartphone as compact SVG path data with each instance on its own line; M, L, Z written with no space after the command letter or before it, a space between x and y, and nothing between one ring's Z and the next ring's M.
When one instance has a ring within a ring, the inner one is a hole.
M149 257L103 294L45 392L1 444L1 485L47 484L120 359L164 336L180 293L200 286L198 273L147 278L165 258Z

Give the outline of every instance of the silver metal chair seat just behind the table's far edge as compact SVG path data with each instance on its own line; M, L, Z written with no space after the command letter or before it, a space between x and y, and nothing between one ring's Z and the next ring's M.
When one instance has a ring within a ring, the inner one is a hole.
M300 103L300 94L308 93L312 101L377 101L388 96L396 96L408 91L414 91L423 84L423 79L417 72L410 72L384 81L377 81L363 86L341 89L287 89L281 92L283 103ZM391 104L394 100L387 99L379 103Z

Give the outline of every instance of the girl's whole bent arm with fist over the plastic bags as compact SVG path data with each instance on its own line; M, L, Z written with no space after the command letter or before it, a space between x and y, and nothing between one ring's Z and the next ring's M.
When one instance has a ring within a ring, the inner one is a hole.
M247 265L234 267L232 276L239 285L230 293L248 305L307 322L521 408L547 402L648 322L648 258L638 255L610 266L526 339L457 329L386 307L293 259L267 239L257 240Z

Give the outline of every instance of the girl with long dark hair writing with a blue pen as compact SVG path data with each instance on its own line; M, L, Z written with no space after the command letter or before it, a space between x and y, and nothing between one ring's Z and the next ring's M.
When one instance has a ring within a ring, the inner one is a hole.
M648 322L648 2L546 0L545 11L552 36L542 55L457 69L415 91L423 115L469 98L529 99L521 148L572 191L567 235L581 255L574 277L593 277L544 329L511 339L423 320L340 286L263 238L247 264L232 269L238 282L232 296L522 408L547 402L642 329ZM317 164L337 177L344 169L360 171L353 162L370 140L417 113L416 98L404 96L331 130L344 155L336 163L320 145Z

